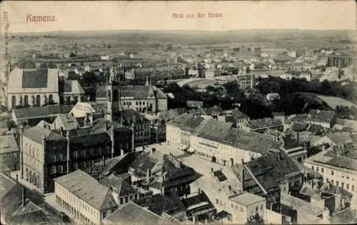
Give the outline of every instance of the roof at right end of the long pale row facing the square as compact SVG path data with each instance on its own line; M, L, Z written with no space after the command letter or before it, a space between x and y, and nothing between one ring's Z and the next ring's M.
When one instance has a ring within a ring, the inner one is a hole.
M231 128L221 139L225 145L231 145L243 150L265 154L271 149L279 150L281 145L274 141L270 135L263 135L258 132L236 130Z

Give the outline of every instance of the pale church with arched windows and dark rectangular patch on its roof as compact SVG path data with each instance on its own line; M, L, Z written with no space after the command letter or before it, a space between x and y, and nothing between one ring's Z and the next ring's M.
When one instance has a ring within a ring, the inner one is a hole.
M58 69L19 69L9 75L8 108L59 103Z

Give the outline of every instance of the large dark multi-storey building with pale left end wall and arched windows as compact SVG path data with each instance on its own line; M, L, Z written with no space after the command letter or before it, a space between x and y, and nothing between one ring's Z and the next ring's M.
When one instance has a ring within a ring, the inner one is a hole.
M72 135L37 125L25 130L20 139L21 177L44 193L53 191L55 177L89 169L103 157L109 159L131 151L133 145L128 127L104 119Z

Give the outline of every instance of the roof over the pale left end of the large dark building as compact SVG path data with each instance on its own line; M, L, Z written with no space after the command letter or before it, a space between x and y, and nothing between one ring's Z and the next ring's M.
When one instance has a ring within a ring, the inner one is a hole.
M52 141L66 140L65 137L62 137L58 133L40 126L31 127L25 130L24 136L29 137L29 139L34 140L39 144L42 144L44 138L45 140Z

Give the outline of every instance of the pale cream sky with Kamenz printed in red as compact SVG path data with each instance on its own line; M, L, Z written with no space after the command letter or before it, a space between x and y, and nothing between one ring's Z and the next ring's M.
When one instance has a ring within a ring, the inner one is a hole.
M2 1L10 33L101 30L356 29L355 1ZM208 18L208 12L222 14ZM194 14L173 19L172 14ZM197 18L198 13L206 14ZM54 16L56 21L26 21ZM4 18L3 18L4 19ZM2 28L4 32L4 28Z

